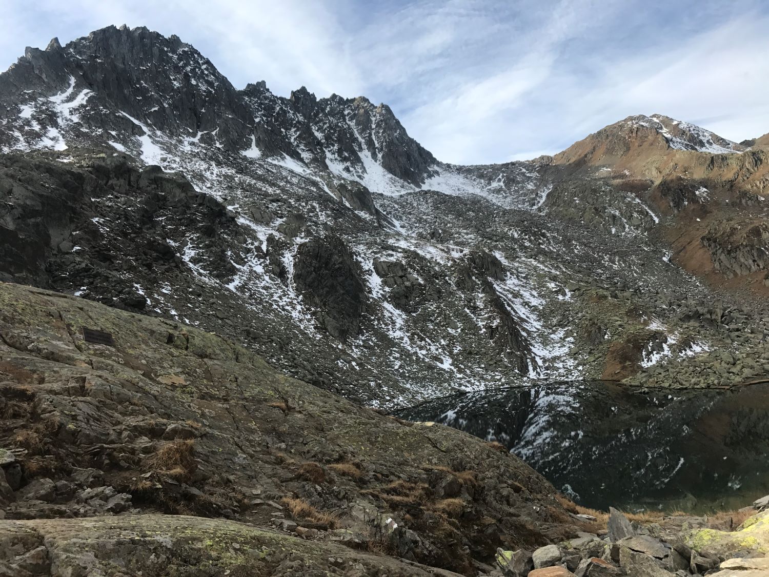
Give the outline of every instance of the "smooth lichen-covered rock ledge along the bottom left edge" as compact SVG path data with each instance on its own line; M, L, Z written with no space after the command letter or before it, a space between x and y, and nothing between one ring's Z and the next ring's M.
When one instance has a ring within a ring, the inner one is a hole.
M227 573L229 572L229 573ZM0 521L0 575L458 575L225 519Z

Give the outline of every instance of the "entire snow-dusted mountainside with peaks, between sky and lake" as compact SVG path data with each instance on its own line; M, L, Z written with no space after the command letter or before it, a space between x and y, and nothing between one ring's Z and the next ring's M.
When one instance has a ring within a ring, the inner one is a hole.
M694 125L447 165L386 105L237 90L175 36L109 27L28 48L0 127L2 278L221 332L369 404L765 371L769 313L734 288L765 288L766 152Z

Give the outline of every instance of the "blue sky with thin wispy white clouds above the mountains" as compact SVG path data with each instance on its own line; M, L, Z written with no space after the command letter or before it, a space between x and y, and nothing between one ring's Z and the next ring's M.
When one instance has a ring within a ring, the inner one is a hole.
M634 114L769 132L767 0L3 0L0 70L110 24L178 35L237 88L384 102L444 162L554 154Z

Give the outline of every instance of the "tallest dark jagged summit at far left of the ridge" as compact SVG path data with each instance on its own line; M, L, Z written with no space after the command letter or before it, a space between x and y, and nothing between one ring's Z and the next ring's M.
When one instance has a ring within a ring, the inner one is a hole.
M94 133L141 137L148 125L179 137L217 132L221 145L242 148L253 125L208 58L176 35L144 27L108 26L63 48L55 38L45 51L28 48L0 75L0 96L8 107L2 116L32 118L29 128L41 129L26 138L45 145L47 137L60 148L65 140L92 143Z

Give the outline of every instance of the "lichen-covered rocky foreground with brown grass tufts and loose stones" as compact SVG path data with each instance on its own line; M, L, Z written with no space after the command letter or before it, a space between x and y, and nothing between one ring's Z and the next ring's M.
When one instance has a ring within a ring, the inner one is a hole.
M501 445L355 405L218 335L21 285L0 305L0 575L766 567L769 512L737 532L614 512L607 530Z

